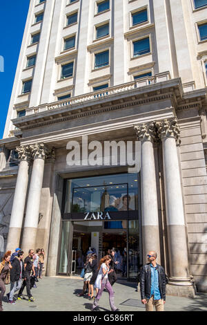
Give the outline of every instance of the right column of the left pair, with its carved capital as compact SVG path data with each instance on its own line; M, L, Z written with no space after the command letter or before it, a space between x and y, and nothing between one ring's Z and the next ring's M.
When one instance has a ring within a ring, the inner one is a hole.
M35 241L37 235L37 226L39 222L39 205L41 199L41 189L43 183L43 171L45 158L48 154L48 148L45 145L30 145L32 158L34 160L32 166L32 175L30 179L30 189L28 194L28 203L26 208L26 219L23 229L22 248L28 252L35 249Z

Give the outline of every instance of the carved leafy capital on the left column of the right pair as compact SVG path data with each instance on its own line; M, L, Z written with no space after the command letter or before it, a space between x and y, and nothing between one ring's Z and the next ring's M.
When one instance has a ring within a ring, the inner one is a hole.
M155 122L135 124L134 129L139 141L156 142L157 130L155 128Z

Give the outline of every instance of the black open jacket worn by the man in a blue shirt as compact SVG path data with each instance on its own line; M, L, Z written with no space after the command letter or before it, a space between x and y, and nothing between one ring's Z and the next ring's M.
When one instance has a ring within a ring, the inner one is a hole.
M159 292L161 295L161 299L166 301L166 274L165 270L162 266L157 264L158 271L158 279L159 279ZM151 268L150 263L142 266L140 270L140 291L141 291L141 299L146 299L146 296L150 297L151 291Z

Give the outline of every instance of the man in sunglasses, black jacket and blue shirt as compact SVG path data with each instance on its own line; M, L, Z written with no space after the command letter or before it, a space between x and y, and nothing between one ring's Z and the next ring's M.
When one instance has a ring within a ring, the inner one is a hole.
M162 266L157 264L157 253L148 252L148 262L140 270L141 302L146 311L164 311L166 303L166 274Z

